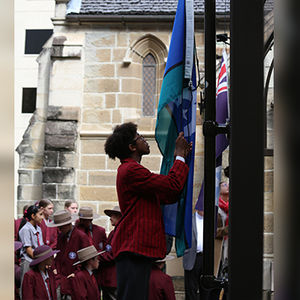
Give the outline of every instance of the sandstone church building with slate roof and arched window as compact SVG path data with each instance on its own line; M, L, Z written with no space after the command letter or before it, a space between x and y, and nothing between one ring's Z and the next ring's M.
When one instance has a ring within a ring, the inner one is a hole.
M194 3L203 77L204 1ZM230 1L217 0L216 6L217 31L229 33ZM38 57L37 108L17 148L18 216L24 205L40 199L51 199L56 210L76 199L93 207L101 215L95 223L110 231L103 210L117 204L119 162L105 155L104 143L123 122L138 124L151 148L142 164L159 172L154 129L176 7L177 0L56 0L53 35ZM223 47L217 44L217 54ZM201 124L197 110L194 201L203 178ZM265 168L265 260L270 261L273 157L266 157Z

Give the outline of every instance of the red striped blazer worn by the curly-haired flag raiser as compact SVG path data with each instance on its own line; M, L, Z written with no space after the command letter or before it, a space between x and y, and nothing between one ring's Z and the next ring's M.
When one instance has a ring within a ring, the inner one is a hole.
M151 173L132 158L121 160L117 193L122 218L112 240L114 256L132 252L147 257L166 255L160 204L175 203L184 187L188 166L176 160L168 175Z

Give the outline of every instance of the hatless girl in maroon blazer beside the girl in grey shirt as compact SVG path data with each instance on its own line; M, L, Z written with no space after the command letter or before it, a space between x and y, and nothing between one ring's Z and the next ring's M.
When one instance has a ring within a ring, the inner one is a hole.
M43 233L44 244L52 249L56 249L57 244L57 228L49 227L48 225L53 222L49 217L53 215L53 203L50 200L42 199L39 206L43 208L44 219L41 222L41 229Z

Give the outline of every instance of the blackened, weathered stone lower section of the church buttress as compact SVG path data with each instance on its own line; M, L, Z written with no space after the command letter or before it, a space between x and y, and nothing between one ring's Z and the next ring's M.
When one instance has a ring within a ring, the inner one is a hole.
M55 210L62 209L65 200L76 198L78 118L78 107L48 107L42 190Z

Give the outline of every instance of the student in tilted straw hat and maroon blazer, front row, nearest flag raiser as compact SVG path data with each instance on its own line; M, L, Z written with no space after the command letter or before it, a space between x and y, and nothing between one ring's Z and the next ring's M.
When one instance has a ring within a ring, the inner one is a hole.
M95 246L89 246L77 251L79 261L74 264L81 264L81 270L76 271L70 279L72 286L72 300L100 300L100 293L96 278L93 274L98 269L98 252Z

